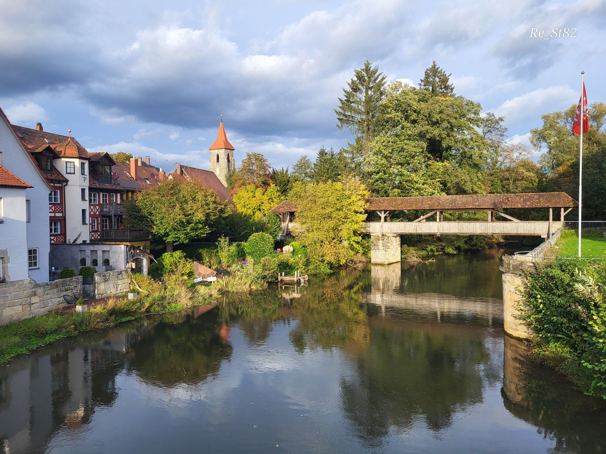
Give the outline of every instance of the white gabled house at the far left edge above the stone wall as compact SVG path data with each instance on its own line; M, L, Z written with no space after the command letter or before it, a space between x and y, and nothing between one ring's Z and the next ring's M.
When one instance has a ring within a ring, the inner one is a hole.
M48 281L51 187L0 109L0 260L5 280Z

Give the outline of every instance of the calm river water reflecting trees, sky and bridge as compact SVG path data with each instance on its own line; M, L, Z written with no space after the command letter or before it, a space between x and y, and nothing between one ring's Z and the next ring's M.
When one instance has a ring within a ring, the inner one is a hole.
M504 337L500 254L59 341L0 367L0 452L604 452L602 402Z

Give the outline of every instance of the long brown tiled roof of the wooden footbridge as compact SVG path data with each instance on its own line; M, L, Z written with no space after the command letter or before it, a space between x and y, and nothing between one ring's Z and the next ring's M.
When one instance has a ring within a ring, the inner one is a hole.
M528 194L471 194L467 196L428 197L370 197L368 211L414 209L502 209L502 208L561 208L578 203L565 192L534 192ZM273 213L296 211L295 203L285 200Z

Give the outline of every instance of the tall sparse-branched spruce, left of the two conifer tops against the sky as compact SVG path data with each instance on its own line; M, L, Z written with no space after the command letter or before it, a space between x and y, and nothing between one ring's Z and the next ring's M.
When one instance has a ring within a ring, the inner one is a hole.
M379 105L385 96L385 78L379 72L379 67L373 68L370 61L354 71L347 89L343 89L343 97L335 109L337 127L340 130L350 130L356 137L362 137L365 153L370 150L370 142L376 135L376 122Z

